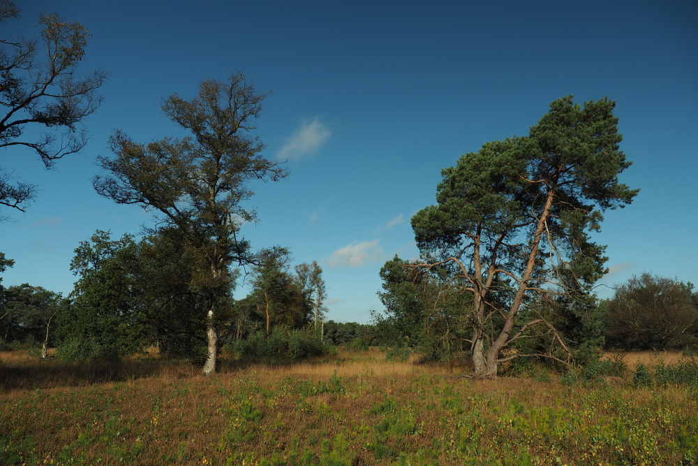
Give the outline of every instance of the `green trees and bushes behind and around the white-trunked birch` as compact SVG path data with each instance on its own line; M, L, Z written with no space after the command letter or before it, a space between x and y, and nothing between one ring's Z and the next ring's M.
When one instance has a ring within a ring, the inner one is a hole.
M56 346L66 360L116 360L158 346L174 357L207 356L210 299L198 286L200 261L172 231L140 241L97 231L75 249L75 288L61 296L40 286L0 286L0 347ZM251 290L232 297L240 270L216 297L218 349L237 356L297 358L359 339L385 344L376 326L326 320L322 268L291 268L288 250L258 253L246 270ZM230 356L226 354L225 356Z

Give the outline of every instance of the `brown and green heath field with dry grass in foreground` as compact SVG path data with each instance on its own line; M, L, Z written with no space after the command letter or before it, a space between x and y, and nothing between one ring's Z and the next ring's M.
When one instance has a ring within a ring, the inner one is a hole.
M698 464L698 384L634 388L632 367L480 381L373 349L205 378L165 358L0 356L2 465Z

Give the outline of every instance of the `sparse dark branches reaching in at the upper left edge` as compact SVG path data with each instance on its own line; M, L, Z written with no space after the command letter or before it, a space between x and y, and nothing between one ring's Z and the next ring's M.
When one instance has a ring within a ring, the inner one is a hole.
M0 0L0 23L19 15L15 3ZM56 14L40 14L38 22L43 27L40 39L21 34L0 39L0 147L28 147L45 168L52 168L54 161L87 144L87 131L79 124L101 104L97 90L107 74L77 74L89 38L83 24ZM27 139L27 125L50 131L38 140ZM0 167L0 205L24 212L35 196L33 184L15 182Z

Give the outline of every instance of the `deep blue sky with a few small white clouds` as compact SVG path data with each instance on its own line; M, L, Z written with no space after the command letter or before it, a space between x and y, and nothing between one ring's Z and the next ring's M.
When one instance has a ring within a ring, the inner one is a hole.
M182 136L161 99L232 71L274 92L257 133L291 171L253 186L260 222L243 232L255 247L287 246L297 263L322 265L329 319L365 322L382 308L378 270L394 254L417 256L409 219L435 202L441 168L526 134L568 94L617 101L633 162L622 180L641 189L597 236L608 245L604 282L646 270L698 283L698 3L17 3L22 20L0 24L3 36L38 34L34 13L57 8L93 34L84 69L111 77L82 154L46 171L31 153L0 151L0 166L40 189L27 214L0 224L0 250L16 261L6 286L67 295L78 242L149 224L139 207L97 196L95 156L108 154L114 129L140 142Z

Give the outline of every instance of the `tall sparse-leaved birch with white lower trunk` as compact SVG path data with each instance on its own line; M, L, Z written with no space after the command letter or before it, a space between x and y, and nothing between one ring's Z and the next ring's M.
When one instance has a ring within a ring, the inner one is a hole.
M249 242L239 237L242 220L255 220L255 211L241 204L253 195L248 182L288 175L281 162L262 155L265 146L258 138L248 136L266 96L242 73L228 82L203 81L188 101L172 94L163 111L191 136L143 145L116 131L110 138L116 157L98 157L107 174L93 179L102 196L156 210L159 222L178 228L205 257L208 272L197 285L208 297L205 374L216 370L214 316L230 286L230 266L254 261Z

